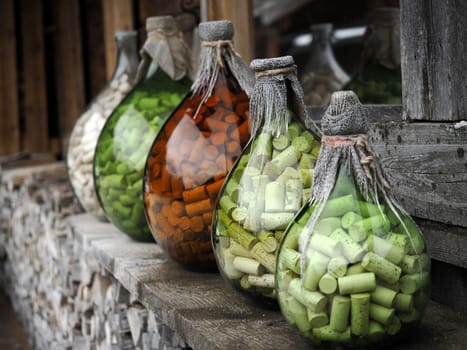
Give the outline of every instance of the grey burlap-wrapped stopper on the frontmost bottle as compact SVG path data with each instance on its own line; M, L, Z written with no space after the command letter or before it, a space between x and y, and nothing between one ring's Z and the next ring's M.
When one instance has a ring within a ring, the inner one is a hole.
M331 95L331 102L321 120L325 135L366 134L368 126L368 113L353 91L336 91Z

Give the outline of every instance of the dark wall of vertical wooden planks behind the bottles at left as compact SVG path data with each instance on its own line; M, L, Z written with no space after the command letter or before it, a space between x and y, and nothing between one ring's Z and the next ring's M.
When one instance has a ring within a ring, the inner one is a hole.
M114 33L145 39L145 20L173 15L190 40L197 0L1 0L0 157L62 157L76 119L111 76Z

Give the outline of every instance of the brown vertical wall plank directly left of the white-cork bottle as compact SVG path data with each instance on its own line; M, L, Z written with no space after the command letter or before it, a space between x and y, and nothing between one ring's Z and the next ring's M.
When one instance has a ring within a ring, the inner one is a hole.
M55 3L55 78L62 154L76 119L86 106L78 1Z

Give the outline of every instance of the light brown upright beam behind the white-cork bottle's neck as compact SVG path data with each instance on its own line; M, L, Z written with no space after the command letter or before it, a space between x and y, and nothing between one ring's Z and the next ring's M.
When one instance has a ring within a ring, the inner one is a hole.
M134 30L132 0L103 0L104 45L107 79L110 79L117 62L115 32Z

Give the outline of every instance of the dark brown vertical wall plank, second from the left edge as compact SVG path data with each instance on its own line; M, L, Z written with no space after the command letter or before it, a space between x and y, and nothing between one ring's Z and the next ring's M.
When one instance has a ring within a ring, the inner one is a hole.
M30 152L49 148L42 5L42 1L20 2L24 83L21 148Z

